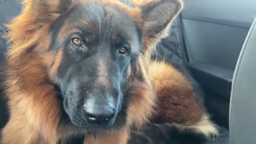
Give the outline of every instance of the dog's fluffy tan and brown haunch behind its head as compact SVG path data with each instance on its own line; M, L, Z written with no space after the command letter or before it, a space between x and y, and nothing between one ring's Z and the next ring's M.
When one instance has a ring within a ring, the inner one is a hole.
M193 86L180 71L165 61L151 61L147 74L157 93L152 121L174 123L180 130L193 130L207 138L218 135L218 127L195 101Z

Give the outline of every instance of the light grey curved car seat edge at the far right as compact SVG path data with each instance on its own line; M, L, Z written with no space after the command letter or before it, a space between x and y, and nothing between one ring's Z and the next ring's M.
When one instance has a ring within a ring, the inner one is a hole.
M239 55L230 100L230 144L256 143L256 19Z

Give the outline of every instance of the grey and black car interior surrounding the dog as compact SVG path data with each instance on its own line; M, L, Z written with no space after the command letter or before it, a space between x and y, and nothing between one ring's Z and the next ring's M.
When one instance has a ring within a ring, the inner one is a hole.
M157 53L185 65L202 86L206 107L220 130L210 143L256 143L256 1L183 2ZM0 63L8 47L4 25L20 10L19 1L0 0ZM7 121L4 101L0 97L0 129Z

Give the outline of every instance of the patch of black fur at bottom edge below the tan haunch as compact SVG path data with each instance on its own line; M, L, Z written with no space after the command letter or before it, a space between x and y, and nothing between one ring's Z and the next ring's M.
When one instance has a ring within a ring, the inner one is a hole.
M150 123L139 131L132 131L128 144L203 144L206 141L204 135L188 129L181 131L172 124Z

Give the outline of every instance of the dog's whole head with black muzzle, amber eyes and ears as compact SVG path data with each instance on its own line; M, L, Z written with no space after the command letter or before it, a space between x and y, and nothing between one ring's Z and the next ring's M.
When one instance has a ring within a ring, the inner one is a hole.
M165 36L182 6L179 0L133 1L134 9L117 1L24 4L27 16L17 19L22 26L9 26L14 42L9 54L18 57L15 44L26 45L19 54L42 58L68 117L81 127L114 125L130 82L145 78L139 57Z

